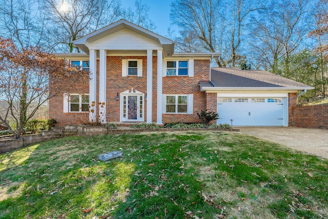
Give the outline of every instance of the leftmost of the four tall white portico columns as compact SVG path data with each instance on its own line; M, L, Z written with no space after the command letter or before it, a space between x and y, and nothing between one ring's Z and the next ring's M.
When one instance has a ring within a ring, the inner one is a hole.
M90 61L90 80L89 80L89 104L91 106L89 113L90 122L94 122L96 118L97 111L97 51L94 49L90 49L89 54ZM92 107L92 102L94 102L94 107Z

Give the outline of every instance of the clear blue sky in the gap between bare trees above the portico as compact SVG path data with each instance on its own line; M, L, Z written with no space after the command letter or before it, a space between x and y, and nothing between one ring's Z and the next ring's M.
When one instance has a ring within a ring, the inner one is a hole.
M134 8L135 0L121 0L122 6L125 8ZM171 0L142 0L142 3L149 7L149 18L155 23L155 32L159 35L168 35L168 28L170 27L170 9Z

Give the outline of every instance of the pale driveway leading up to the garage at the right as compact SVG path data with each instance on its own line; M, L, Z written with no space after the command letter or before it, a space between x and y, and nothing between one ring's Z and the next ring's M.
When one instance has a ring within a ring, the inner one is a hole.
M238 127L241 133L328 159L328 130L295 127Z

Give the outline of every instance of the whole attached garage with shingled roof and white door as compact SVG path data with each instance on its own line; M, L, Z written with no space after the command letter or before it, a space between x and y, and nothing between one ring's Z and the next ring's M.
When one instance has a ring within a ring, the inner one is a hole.
M289 104L297 104L289 94L314 89L268 71L237 68L212 68L211 81L199 86L211 93L207 106L219 114L217 124L233 126L288 126Z

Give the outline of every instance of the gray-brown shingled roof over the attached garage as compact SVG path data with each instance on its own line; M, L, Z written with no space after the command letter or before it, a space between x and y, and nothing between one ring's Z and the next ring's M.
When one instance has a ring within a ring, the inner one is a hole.
M308 88L308 85L295 82L291 79L273 74L268 71L240 70L237 68L212 68L211 82L209 84L201 83L203 87L259 87L259 88Z

